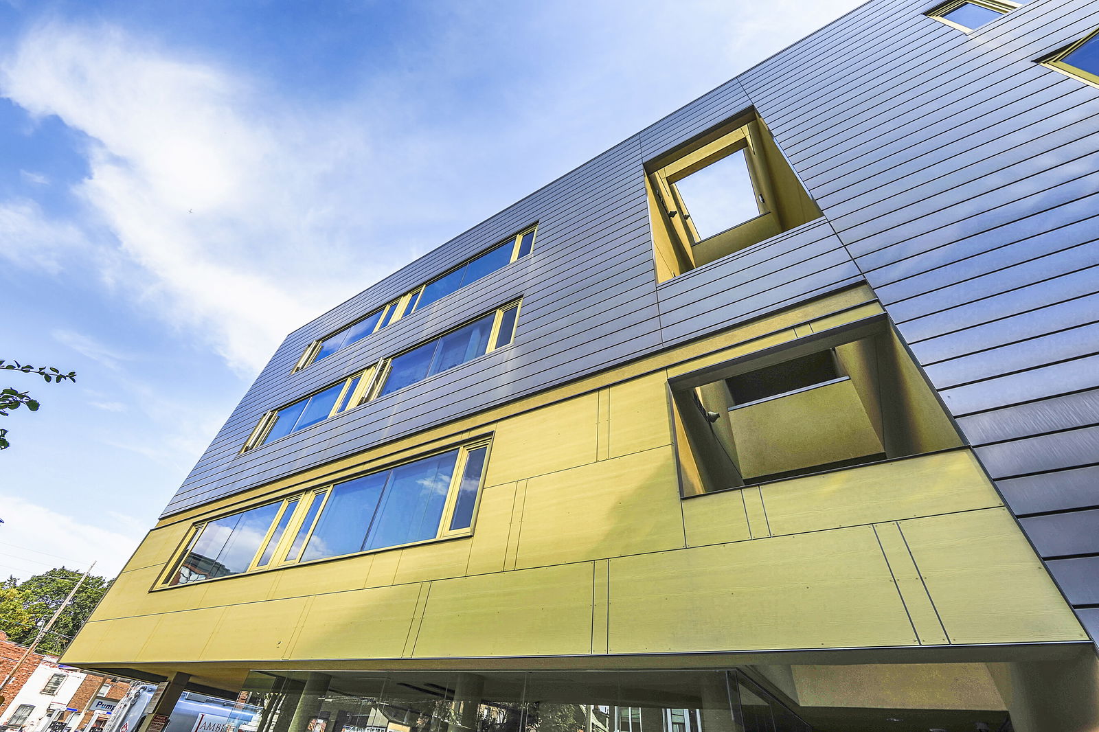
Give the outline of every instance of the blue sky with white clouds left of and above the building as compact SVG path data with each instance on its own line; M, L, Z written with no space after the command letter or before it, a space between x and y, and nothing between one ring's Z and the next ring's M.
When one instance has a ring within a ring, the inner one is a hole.
M0 0L0 575L113 575L286 333L853 0Z

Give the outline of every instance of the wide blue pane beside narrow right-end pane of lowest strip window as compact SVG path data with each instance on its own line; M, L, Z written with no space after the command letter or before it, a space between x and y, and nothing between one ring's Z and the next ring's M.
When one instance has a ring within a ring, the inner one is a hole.
M457 455L455 450L393 468L364 548L434 539Z

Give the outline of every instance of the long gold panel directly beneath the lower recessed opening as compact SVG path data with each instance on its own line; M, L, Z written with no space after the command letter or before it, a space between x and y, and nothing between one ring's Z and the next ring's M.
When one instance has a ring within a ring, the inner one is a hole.
M776 534L1000 504L968 450L792 478L765 485L762 490L767 520Z

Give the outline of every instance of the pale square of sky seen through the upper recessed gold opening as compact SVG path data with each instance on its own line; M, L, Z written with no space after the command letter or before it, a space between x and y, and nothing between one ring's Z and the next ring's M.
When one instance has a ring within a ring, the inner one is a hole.
M741 148L676 181L675 187L700 239L709 239L759 215L744 154Z

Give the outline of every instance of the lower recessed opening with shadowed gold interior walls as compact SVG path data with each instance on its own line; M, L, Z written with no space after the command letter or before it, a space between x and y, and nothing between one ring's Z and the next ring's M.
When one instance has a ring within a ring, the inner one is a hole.
M671 380L688 493L962 445L882 317Z

